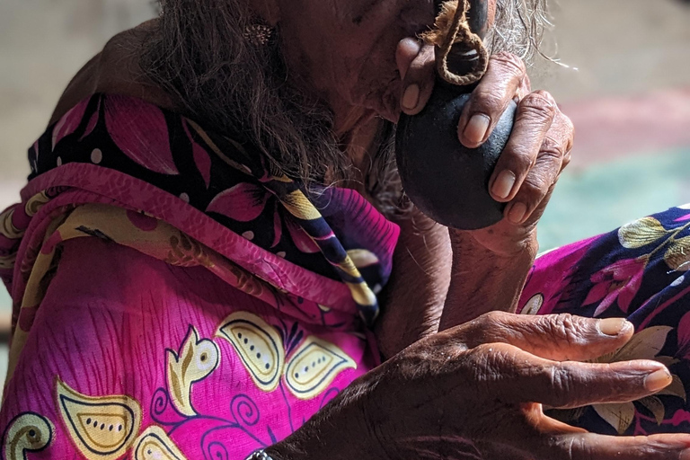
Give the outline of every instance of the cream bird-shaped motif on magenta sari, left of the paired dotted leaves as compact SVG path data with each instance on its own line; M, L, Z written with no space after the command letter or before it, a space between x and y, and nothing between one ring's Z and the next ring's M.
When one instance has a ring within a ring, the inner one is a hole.
M220 352L213 341L199 341L199 333L190 326L182 342L180 355L167 350L168 389L175 409L191 417L197 412L191 405L191 385L206 378L218 366Z

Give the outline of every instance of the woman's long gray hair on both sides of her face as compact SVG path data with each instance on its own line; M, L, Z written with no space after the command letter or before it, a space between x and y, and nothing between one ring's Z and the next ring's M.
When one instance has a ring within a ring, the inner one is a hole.
M546 0L498 0L487 45L530 58L544 31ZM288 80L279 29L268 44L247 40L256 24L245 0L160 0L141 68L203 126L240 135L291 176L335 184L351 181L352 164L333 134L332 112ZM277 35L277 37L275 36ZM394 126L383 122L364 173L367 193L386 215L405 214L394 162Z

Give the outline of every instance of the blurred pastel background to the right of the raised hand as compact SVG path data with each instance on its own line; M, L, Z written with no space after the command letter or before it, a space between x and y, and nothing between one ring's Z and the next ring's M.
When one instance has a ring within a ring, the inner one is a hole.
M537 63L576 127L571 166L540 223L542 249L690 201L690 4L561 0L562 63ZM547 43L547 51L548 51Z

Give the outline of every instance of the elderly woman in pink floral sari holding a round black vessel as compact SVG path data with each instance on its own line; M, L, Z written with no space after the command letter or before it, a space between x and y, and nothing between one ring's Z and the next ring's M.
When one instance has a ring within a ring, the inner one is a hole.
M459 141L519 104L477 231L405 205L390 156L434 2L162 4L75 76L0 216L3 458L690 458L607 436L688 429L687 212L533 266L572 128L499 51L541 0L490 0Z

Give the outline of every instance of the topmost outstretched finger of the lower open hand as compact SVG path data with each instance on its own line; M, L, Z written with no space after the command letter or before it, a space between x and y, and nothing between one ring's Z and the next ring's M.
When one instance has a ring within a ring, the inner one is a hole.
M582 361L620 349L632 338L634 327L623 318L600 320L571 314L529 316L491 312L465 323L461 330L462 340L469 348L503 342L539 358Z

